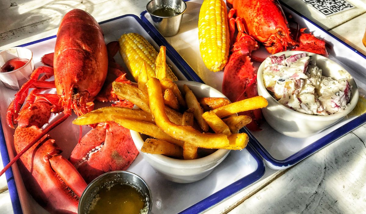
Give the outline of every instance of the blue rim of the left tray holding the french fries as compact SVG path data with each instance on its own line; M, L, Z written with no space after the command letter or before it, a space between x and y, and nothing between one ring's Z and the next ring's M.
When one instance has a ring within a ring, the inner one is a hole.
M103 22L99 22L99 24L111 22L111 21L114 21L116 19L120 19L120 18L124 18L124 17L133 17L134 19L136 19L136 21L142 26L143 29L145 29L145 31L152 37L152 39L159 46L162 46L162 45L166 46L167 47L168 57L174 62L174 64L178 67L178 69L183 73L183 75L188 80L203 83L201 78L198 77L198 75L194 72L194 70L187 64L186 61L184 61L184 59L164 39L164 37L157 30L151 29L151 27L149 27L145 23L143 23L142 20L139 19L136 15L127 14L127 15L123 15L123 16L120 16L120 17L108 19L108 20L103 21ZM149 29L149 31L147 31L147 29ZM56 37L56 35L55 36L49 36L49 37L46 37L44 39L40 39L40 40L36 40L36 41L32 41L32 42L20 45L19 47L25 47L25 46L29 46L31 44L40 43L42 41L53 39L55 37ZM1 131L0 131L0 152L1 152L1 155L2 155L2 159L3 159L3 164L5 166L6 164L8 164L10 162L10 160L9 160L9 154L8 154L7 146L6 146L6 143L5 143L3 127L1 126L1 123L0 123L0 129L1 129ZM252 184L253 182L257 181L259 178L261 178L265 173L265 164L264 164L262 158L258 155L257 152L255 152L255 150L251 146L247 146L246 149L250 153L250 155L253 156L255 161L257 162L257 165L258 165L257 169L253 173L239 179L238 181L234 182L231 185L228 185L227 187L221 189L220 191L217 191L216 193L213 193L213 195L210 195L209 197L206 197L205 199L201 200L200 202L194 204L193 206L188 207L186 210L182 211L182 213L198 213L198 212L201 212L203 210L206 210L207 208L213 206L216 203L219 203L221 200L231 196L232 194L240 191L241 189L245 188L246 186ZM9 192L10 192L10 198L11 198L11 202L12 202L13 211L16 214L21 214L23 212L22 212L22 207L20 205L18 191L16 189L16 184L15 184L15 181L14 181L14 175L12 173L12 169L11 168L8 169L5 172L5 174L6 174L6 178L7 178L7 182L8 182L8 189L9 189Z

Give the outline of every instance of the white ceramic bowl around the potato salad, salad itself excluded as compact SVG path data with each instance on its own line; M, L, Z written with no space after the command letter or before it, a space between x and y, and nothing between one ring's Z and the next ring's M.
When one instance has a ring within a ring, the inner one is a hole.
M285 54L286 57L290 57L291 55L303 52L305 51L284 51L274 55L280 56ZM323 76L332 77L333 79L342 79L346 76L351 77L346 69L336 62L318 54L309 53L309 56L311 56L316 65L322 69ZM350 104L344 111L333 115L307 115L289 109L276 101L265 88L263 83L264 64L265 61L259 66L257 73L258 94L268 101L268 106L263 108L262 112L267 123L281 134L296 138L310 137L342 119L350 113L357 104L358 88L354 79L351 77L349 79L350 85L352 86ZM344 72L339 72L340 70L343 70Z

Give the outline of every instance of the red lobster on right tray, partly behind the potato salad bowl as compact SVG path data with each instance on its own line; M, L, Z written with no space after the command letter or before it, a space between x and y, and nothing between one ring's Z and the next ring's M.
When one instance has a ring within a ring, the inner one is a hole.
M232 54L224 69L223 93L233 102L257 96L256 74L251 52L258 49L262 43L270 54L285 51L288 47L293 50L314 52L328 55L325 41L316 38L305 29L291 33L288 21L277 0L228 0L229 29ZM234 18L236 15L236 18ZM238 35L234 38L235 24ZM297 35L297 38L295 38ZM235 42L234 42L235 40ZM252 56L254 60L261 61ZM258 131L262 120L261 110L246 112L252 117L247 125L250 130Z

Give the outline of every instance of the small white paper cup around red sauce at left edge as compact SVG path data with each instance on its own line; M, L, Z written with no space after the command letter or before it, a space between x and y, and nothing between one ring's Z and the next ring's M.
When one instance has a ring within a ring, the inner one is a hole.
M7 61L14 58L25 58L29 61L21 68L10 72L0 73L0 80L4 86L13 90L19 90L22 85L29 80L34 70L33 53L31 50L23 47L8 48L0 51L0 67Z

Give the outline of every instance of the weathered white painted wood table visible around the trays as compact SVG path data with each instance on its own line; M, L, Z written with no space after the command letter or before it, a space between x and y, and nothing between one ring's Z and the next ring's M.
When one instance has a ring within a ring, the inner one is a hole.
M366 2L325 18L301 0L286 4L366 54ZM55 35L72 8L103 21L123 14L139 15L147 1L138 0L2 0L0 50ZM179 51L179 50L178 50ZM365 68L366 70L366 68ZM366 213L366 126L286 170L266 167L263 178L206 213ZM2 166L1 166L2 167ZM0 177L0 213L12 213L5 176Z

